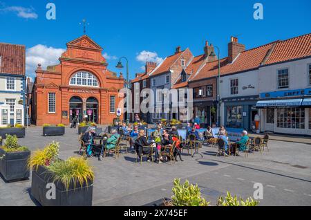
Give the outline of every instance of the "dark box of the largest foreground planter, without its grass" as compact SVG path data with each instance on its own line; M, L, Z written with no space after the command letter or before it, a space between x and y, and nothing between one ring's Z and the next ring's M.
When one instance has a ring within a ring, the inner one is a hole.
M84 183L81 187L76 183L70 183L68 190L61 182L55 182L55 199L47 199L46 193L50 194L50 187L46 189L48 183L53 183L53 173L46 167L39 166L32 169L31 194L43 206L91 206L93 200L93 182L88 185Z

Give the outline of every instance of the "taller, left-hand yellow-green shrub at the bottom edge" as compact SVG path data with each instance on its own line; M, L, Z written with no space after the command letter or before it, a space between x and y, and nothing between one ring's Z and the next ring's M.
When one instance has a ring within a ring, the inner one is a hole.
M209 203L202 198L198 185L190 185L189 181L180 184L180 178L173 181L173 196L171 196L174 206L207 206Z

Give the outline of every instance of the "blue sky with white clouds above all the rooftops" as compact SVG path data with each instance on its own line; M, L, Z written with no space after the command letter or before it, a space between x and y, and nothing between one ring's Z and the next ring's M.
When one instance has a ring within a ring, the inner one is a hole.
M49 2L56 5L56 20L46 19ZM263 4L263 20L253 17L256 2ZM86 18L86 34L104 48L109 69L119 73L117 57L126 56L133 78L146 55L160 61L178 45L200 55L208 40L225 57L232 35L253 48L310 33L310 8L310 0L0 0L0 42L26 45L27 74L33 77L37 62L57 64L66 43L83 35L79 22Z

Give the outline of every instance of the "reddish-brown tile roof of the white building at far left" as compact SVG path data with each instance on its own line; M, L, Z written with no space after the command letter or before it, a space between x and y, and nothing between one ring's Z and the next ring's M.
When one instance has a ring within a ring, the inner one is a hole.
M0 43L0 73L25 75L25 46Z

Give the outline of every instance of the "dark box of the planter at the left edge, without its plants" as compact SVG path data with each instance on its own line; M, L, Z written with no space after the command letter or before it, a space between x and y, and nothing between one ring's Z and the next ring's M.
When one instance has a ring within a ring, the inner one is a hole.
M29 178L30 170L27 161L30 157L30 151L7 153L0 149L0 157L0 173L6 181Z

